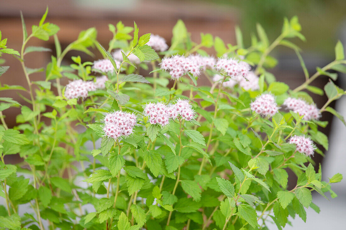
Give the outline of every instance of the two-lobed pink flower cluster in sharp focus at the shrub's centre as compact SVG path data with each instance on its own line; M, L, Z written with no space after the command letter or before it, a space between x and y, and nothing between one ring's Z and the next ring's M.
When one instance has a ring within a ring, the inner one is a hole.
M150 116L150 124L168 125L171 119L176 119L179 116L190 121L194 118L195 111L192 109L188 100L178 99L173 105L165 105L161 102L148 103L145 106L144 113Z

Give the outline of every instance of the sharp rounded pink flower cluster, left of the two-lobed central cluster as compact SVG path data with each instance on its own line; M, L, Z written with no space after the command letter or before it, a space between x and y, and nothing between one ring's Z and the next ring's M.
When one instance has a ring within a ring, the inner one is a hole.
M114 140L119 139L121 136L131 135L136 123L137 116L135 114L122 111L108 113L104 117L104 135Z

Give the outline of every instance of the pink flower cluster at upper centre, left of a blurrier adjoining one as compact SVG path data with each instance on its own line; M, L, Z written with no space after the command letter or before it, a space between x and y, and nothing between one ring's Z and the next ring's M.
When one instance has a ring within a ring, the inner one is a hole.
M172 79L179 79L181 76L191 73L193 76L200 75L200 67L193 60L183 56L175 55L163 58L161 69L169 70Z

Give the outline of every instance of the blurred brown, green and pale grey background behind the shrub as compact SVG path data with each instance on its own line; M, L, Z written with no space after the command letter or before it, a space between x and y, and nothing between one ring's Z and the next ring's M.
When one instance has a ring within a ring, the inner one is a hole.
M261 23L270 41L281 32L283 18L299 17L302 33L306 42L292 40L303 49L302 56L310 75L316 72L316 67L323 67L335 59L334 47L341 40L346 47L346 1L345 0L0 0L0 29L2 37L8 38L8 47L20 50L22 44L22 28L20 11L24 15L28 31L31 25L37 24L46 6L49 7L46 21L60 27L58 38L65 48L76 40L80 31L95 27L98 30L97 39L108 47L111 32L108 24L115 25L122 21L125 26L133 26L136 21L140 35L154 33L164 37L170 45L172 28L178 19L182 19L191 38L200 41L200 32L219 36L225 43L235 45L235 26L239 25L244 37L245 47L250 46L251 34L256 33L256 23ZM44 67L55 55L54 41L31 39L29 46L43 46L52 49L50 52L33 52L26 57L26 65L30 68ZM94 50L98 54L97 50ZM214 54L213 49L207 50ZM91 57L82 52L71 51L67 54L64 64L70 64L71 56L80 55L83 61L93 61L100 56ZM297 56L293 50L286 47L276 48L271 55L278 59L279 64L270 70L278 81L295 88L304 81L304 75ZM0 78L1 84L15 84L27 87L20 63L6 55L6 65L9 71ZM32 80L44 80L44 73L30 75ZM322 88L328 81L327 77L319 77L312 85ZM345 76L339 75L337 85L346 89ZM67 82L65 82L67 83ZM62 84L65 85L63 82ZM1 92L0 97L12 97L24 102L16 92ZM311 95L318 107L327 101L325 96ZM331 105L346 116L346 98ZM6 122L15 125L18 108L4 111ZM326 128L321 129L330 138L329 151L322 159L315 154L313 160L322 163L325 176L331 177L339 172L346 175L346 137L345 126L330 114L322 114L322 121L329 121ZM321 147L321 149L323 149ZM15 159L8 159L9 161ZM318 164L317 164L318 167ZM294 179L292 179L294 182ZM345 181L345 180L344 180ZM307 210L307 223L296 218L292 220L294 229L322 229L336 224L335 229L343 229L346 221L346 183L335 184L334 191L339 195L331 201L324 200L315 194L314 202L320 206L320 214L312 209ZM338 227L340 226L340 227ZM342 227L343 226L343 227ZM272 229L276 229L273 224ZM286 226L285 229L293 229Z

